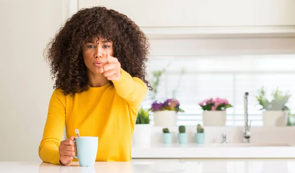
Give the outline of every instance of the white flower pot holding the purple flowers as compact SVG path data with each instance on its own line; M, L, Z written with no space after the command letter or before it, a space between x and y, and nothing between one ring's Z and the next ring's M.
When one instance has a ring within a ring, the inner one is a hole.
M155 126L177 126L176 111L155 111L153 113L153 122Z

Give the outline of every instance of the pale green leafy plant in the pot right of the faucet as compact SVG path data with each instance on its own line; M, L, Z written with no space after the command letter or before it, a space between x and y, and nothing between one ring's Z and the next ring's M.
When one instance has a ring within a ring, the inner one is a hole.
M289 107L286 106L286 103L289 101L291 95L287 92L285 95L282 91L279 91L277 88L275 92L272 94L272 99L269 101L266 98L266 91L264 87L261 87L259 90L259 95L256 96L257 101L262 108L260 110L289 110Z

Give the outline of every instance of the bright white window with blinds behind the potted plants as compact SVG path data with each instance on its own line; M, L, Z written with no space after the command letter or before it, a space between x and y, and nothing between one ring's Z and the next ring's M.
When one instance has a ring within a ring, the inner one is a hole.
M153 71L166 72L161 76L158 93L154 100L175 97L184 113L179 113L177 125L202 123L202 109L198 103L213 97L226 98L233 108L227 109L226 125L243 125L245 92L249 93L248 114L252 125L262 125L262 110L255 95L262 87L267 94L277 87L293 96L288 105L295 111L295 55L229 55L229 56L170 56L151 57L148 62L149 79ZM182 71L183 70L183 71ZM183 73L182 73L183 72ZM151 92L143 101L144 108L150 108ZM151 122L152 114L151 114Z

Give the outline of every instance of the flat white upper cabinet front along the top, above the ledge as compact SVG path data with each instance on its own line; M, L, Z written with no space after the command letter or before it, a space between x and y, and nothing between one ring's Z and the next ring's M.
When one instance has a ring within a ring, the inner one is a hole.
M295 0L79 0L106 6L141 27L295 25Z

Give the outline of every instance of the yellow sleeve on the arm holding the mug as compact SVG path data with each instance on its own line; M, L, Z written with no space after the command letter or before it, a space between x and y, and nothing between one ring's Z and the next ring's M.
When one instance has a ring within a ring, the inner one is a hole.
M56 89L50 99L48 115L39 146L39 157L43 162L59 164L59 145L65 125L65 96Z

